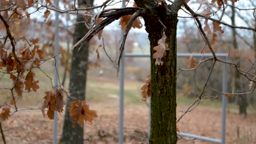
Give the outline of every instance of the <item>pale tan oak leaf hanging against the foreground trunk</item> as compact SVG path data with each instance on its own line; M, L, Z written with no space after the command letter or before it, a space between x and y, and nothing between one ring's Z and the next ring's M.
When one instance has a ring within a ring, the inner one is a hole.
M156 51L153 55L153 58L156 59L155 64L156 65L162 65L164 62L161 61L162 57L166 56L166 51L168 49L168 44L165 43L166 41L166 35L165 33L162 34L162 38L158 40L158 45L153 47L153 49Z

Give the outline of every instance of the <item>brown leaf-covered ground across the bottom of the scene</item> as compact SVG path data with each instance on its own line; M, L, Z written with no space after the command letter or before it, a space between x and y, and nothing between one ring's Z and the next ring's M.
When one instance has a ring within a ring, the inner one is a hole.
M97 110L98 118L92 125L85 125L84 143L118 143L118 104L111 102L90 103ZM177 117L186 107L177 107ZM196 107L178 122L178 129L185 133L220 139L221 110ZM58 139L61 137L63 114L59 115ZM15 113L3 123L7 143L52 143L53 121L43 118L39 110ZM124 143L147 143L148 107L143 104L125 105ZM178 143L211 143L188 137ZM0 139L0 143L3 143ZM246 118L228 112L226 118L226 143L256 143L256 115Z

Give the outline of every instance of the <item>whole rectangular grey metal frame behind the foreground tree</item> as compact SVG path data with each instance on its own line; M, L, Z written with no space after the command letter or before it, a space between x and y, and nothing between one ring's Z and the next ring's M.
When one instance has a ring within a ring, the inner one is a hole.
M212 53L177 53L177 57L189 57L193 55L194 57L212 57ZM216 53L217 57L225 58L228 61L228 53ZM150 54L141 53L124 53L123 59L120 65L120 98L119 98L119 144L123 143L123 123L124 123L124 72L125 72L125 57L150 57ZM223 64L223 81L222 81L222 92L226 93L228 86L228 65ZM149 101L150 103L150 101ZM149 106L149 132L150 132L150 106ZM182 132L177 132L178 135L191 137L199 140L210 141L214 143L225 144L225 133L226 133L226 98L224 94L222 95L222 133L221 140L212 139L210 137L199 136L194 134L187 134Z

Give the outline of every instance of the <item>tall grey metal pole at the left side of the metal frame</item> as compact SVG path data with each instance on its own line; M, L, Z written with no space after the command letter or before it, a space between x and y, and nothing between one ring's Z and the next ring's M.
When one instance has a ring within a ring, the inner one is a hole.
M122 2L122 8L125 7L125 1ZM124 32L122 31L122 35ZM123 53L124 54L124 53ZM120 98L119 98L119 133L118 143L122 144L124 141L124 67L125 67L125 56L122 57L120 63Z

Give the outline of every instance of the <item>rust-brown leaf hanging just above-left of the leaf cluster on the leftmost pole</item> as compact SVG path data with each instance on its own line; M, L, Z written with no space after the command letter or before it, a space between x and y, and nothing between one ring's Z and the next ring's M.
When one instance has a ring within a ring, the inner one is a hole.
M30 70L28 73L27 73L27 76L26 76L26 81L24 82L25 84L25 89L30 92L31 91L31 88L33 89L33 91L37 91L37 89L39 88L39 86L37 85L37 83L39 81L34 81L34 73L32 72L32 70Z

